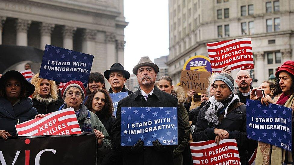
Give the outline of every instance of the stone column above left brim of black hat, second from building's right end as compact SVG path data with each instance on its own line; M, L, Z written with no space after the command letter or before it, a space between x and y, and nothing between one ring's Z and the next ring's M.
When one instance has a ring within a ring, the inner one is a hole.
M117 62L116 50L115 50L115 34L114 33L105 33L105 42L106 42L106 68Z

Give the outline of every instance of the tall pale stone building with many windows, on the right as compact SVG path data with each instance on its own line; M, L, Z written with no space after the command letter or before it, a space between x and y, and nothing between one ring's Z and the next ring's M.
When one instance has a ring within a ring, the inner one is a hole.
M293 11L292 0L169 0L170 76L180 82L186 60L208 56L206 43L249 37L253 85L261 84L283 62L294 60Z

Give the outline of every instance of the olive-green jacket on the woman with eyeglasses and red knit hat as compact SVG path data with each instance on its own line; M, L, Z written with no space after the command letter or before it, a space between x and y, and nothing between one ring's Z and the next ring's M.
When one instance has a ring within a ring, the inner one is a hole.
M64 104L61 109L67 108L67 105ZM97 153L98 153L98 159L97 165L101 164L100 162L102 161L103 157L108 154L108 152L111 150L111 143L110 143L110 136L108 135L105 127L99 120L99 118L91 111L88 110L86 105L83 103L80 105L80 115L78 116L77 120L79 122L80 128L83 128L84 121L88 115L88 112L90 113L90 120L91 120L91 126L92 126L92 133L94 133L94 129L99 130L100 132L103 133L104 138L102 145L100 147L97 147ZM93 137L95 138L95 136Z

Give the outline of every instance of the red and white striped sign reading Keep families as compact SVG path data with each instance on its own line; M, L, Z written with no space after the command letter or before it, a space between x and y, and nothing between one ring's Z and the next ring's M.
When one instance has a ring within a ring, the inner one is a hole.
M68 135L82 133L72 107L15 125L18 136Z

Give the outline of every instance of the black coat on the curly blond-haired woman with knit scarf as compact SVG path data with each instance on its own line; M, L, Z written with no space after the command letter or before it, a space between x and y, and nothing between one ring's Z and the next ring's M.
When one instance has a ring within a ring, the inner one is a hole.
M59 107L63 104L59 99L57 99L55 102L51 102L48 105L45 105L45 103L39 102L37 99L32 99L33 107L37 109L38 114L48 114L51 112L55 112L59 109Z

